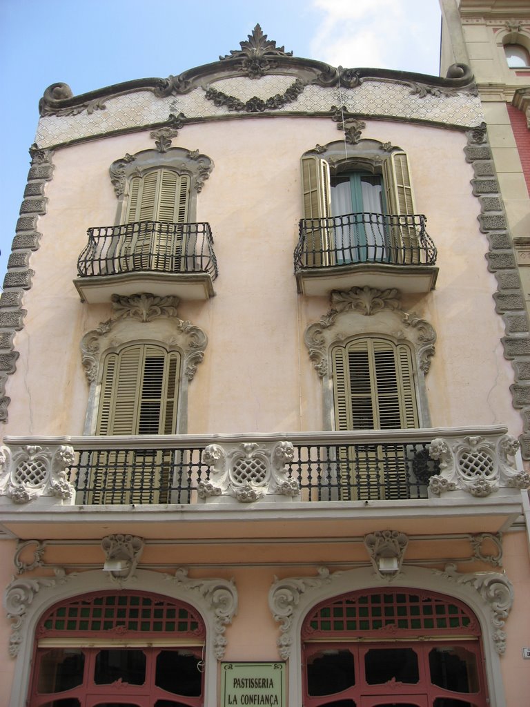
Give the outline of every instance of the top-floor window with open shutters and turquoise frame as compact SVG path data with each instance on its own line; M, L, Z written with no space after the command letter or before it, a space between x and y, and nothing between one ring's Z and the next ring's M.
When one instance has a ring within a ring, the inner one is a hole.
M308 266L418 261L418 224L406 153L330 162L302 157ZM375 152L375 151L374 151Z

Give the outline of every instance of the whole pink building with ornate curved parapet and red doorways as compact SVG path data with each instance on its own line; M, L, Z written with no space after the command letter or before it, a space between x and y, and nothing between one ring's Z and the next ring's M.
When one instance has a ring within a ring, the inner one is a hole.
M529 338L471 71L257 25L40 112L0 300L0 705L519 707Z

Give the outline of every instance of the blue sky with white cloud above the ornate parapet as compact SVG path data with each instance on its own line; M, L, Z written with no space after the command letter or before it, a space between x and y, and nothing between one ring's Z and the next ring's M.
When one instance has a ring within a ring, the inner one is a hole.
M438 74L437 0L0 0L0 284L45 88L180 74L239 49L256 23L295 56Z

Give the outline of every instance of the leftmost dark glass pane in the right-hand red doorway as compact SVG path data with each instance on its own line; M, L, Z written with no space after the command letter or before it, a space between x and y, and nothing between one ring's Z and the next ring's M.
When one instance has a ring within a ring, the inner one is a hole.
M307 659L307 694L332 695L352 685L355 685L355 665L349 650L322 650ZM351 701L344 702L345 706L350 704Z

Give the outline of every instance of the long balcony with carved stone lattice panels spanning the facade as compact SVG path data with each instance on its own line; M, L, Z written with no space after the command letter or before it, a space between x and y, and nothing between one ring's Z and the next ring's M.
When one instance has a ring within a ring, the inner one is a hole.
M58 523L75 535L81 512L87 529L163 520L177 534L184 518L205 528L226 520L232 530L281 518L293 529L340 520L352 534L382 519L427 534L447 532L448 522L454 532L500 532L530 486L512 464L517 442L500 427L5 444L2 526L18 537Z

